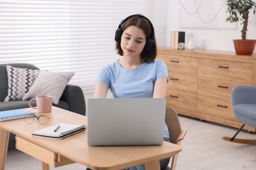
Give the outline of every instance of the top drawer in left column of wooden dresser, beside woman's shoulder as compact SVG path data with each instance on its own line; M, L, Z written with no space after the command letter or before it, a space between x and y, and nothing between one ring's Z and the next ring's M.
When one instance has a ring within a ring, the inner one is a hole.
M198 75L197 58L161 54L161 56L158 56L158 59L161 59L165 62L169 73Z

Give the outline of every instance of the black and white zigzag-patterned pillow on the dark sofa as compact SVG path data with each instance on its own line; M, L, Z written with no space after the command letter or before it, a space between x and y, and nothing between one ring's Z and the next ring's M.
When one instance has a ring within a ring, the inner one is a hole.
M22 100L37 78L39 70L21 69L7 65L8 95L5 101Z

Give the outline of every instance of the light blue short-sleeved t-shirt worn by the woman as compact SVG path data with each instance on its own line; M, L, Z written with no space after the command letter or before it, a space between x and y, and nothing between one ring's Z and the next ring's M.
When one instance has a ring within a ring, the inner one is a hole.
M161 60L142 63L136 69L124 69L117 60L103 67L96 81L106 84L115 98L146 98L153 97L154 84L158 78L162 77L168 78L168 71ZM164 137L169 139L166 125Z

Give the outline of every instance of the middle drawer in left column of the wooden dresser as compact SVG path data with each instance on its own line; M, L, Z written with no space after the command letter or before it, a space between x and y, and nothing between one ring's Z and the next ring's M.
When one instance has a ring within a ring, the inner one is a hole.
M198 78L197 76L169 73L167 89L196 94L198 92Z

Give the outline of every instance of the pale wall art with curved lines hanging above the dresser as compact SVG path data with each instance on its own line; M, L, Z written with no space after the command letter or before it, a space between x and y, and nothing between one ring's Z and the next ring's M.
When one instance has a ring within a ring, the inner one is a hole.
M226 0L179 0L179 27L236 29L226 23Z

